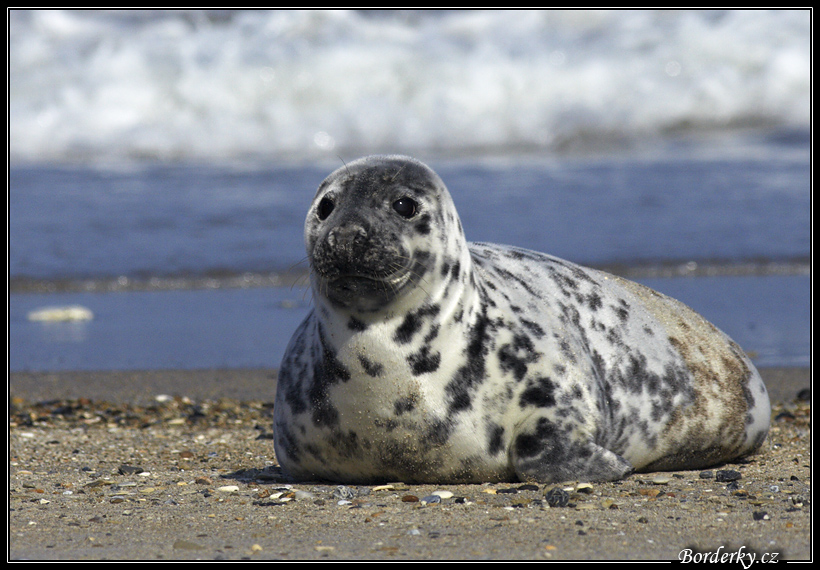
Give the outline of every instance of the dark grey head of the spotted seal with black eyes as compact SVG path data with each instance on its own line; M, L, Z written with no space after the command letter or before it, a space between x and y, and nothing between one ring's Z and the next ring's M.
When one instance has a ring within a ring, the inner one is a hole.
M334 308L374 313L423 288L440 260L427 244L443 237L431 233L445 197L438 175L406 158L369 157L336 170L305 222L314 293Z

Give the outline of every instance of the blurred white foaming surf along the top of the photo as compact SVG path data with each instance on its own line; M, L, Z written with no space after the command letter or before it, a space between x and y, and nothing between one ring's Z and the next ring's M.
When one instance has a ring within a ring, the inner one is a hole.
M807 128L808 11L11 11L13 162Z

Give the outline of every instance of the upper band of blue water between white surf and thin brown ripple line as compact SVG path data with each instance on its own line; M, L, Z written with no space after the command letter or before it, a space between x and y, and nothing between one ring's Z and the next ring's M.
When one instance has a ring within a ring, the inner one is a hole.
M661 156L427 162L471 241L599 265L809 252L805 138L747 146L740 156L710 142ZM12 168L9 273L48 280L286 271L305 257L308 206L337 166Z

